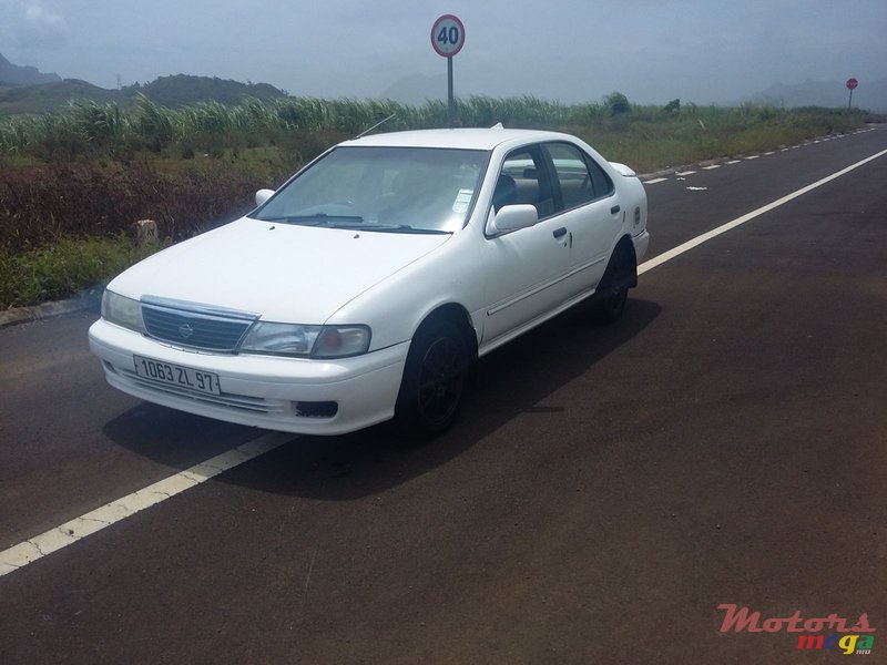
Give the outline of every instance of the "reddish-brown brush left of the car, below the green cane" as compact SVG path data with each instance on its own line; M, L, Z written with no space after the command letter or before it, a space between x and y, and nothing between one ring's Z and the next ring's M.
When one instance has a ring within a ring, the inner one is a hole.
M249 211L256 190L289 168L226 162L58 164L0 170L0 250L9 255L83 235L134 237L137 219L179 241Z

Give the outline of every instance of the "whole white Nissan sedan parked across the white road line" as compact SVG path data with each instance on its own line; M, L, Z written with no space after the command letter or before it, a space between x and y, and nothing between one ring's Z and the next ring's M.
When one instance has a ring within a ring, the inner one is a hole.
M89 337L111 386L273 430L434 436L478 357L585 299L615 320L650 241L634 173L541 131L346 141L256 203L109 284Z

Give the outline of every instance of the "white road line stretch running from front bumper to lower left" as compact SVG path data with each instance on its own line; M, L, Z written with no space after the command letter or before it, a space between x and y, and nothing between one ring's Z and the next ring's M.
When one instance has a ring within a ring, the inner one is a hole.
M122 499L96 508L84 515L65 522L61 526L50 529L23 543L13 545L0 552L0 577L53 552L58 552L62 548L67 548L121 520L125 520L146 508L156 505L185 490L206 482L223 471L234 469L261 454L279 448L284 443L292 441L295 436L284 432L268 432L242 446L232 448L227 452L217 454L205 462L170 475L144 489L136 490Z

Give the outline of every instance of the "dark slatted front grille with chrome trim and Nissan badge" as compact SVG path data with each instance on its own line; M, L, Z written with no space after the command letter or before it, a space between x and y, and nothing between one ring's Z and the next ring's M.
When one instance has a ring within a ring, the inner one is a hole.
M194 303L152 296L142 298L142 319L149 336L196 349L235 351L257 318L254 314Z

